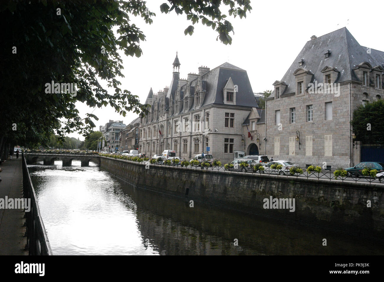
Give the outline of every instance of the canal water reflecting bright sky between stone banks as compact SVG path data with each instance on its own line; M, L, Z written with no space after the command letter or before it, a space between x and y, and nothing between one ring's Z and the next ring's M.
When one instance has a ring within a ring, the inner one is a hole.
M377 242L132 187L94 163L28 165L55 255L382 255ZM323 246L323 239L327 246ZM235 246L236 243L238 246Z

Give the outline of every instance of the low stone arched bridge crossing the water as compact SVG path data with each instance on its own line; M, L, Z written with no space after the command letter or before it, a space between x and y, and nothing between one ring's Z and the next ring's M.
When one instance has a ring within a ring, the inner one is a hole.
M43 161L44 165L52 165L55 164L56 160L61 160L63 161L63 166L71 166L72 161L75 160L81 161L81 166L89 166L89 161L100 165L100 157L98 155L27 153L25 158L27 164Z

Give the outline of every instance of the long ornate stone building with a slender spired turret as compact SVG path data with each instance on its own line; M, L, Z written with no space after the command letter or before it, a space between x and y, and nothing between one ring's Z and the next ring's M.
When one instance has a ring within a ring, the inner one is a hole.
M148 156L173 149L190 159L206 152L232 161L243 151L242 126L252 108L258 109L247 71L223 63L210 70L199 67L180 79L176 55L169 87L149 91L150 114L140 120L140 152Z

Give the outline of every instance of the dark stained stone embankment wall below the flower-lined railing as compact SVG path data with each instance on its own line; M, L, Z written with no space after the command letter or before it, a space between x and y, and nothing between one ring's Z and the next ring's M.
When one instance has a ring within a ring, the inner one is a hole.
M188 200L383 241L384 196L377 184L252 175L136 164L101 158L101 168L131 183ZM264 209L263 199L295 198L295 212ZM367 207L367 200L371 207Z

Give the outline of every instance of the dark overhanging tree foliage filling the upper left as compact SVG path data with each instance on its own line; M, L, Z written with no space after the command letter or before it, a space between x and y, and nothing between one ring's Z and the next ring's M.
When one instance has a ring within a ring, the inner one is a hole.
M224 44L230 44L233 27L219 9L226 6L230 15L240 18L252 9L249 0L167 0L160 8L162 13L184 13L192 25L201 20L218 32ZM0 103L0 154L4 144L46 145L53 131L61 142L72 132L86 136L98 118L92 113L81 118L75 107L78 101L90 108L110 105L122 116L129 111L140 116L148 113L139 97L121 89L118 80L124 77L118 50L139 57L139 43L146 38L131 23L132 15L148 24L156 16L142 0L2 3L0 17L8 28L3 28L0 45L4 95ZM192 26L187 30L187 34L193 33ZM101 80L106 81L107 88L101 86ZM52 82L76 83L76 96L68 91L46 93L47 83ZM13 124L17 124L16 131Z

